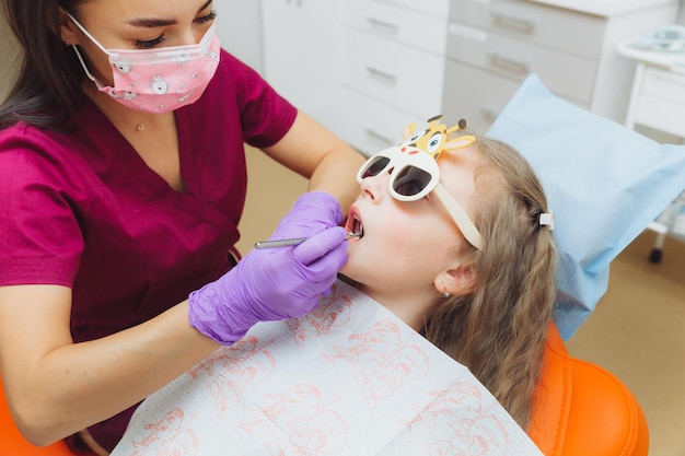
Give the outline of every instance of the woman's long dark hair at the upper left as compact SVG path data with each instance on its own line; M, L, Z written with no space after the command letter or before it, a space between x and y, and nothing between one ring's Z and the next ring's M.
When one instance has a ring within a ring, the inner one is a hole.
M58 129L83 104L84 72L60 34L60 8L76 13L80 3L83 0L2 2L22 56L14 85L0 105L0 129L18 121Z

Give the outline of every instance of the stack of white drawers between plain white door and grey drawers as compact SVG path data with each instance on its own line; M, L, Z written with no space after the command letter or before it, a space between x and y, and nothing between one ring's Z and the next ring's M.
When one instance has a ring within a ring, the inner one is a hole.
M448 0L348 0L340 128L364 153L402 141L404 127L441 114Z

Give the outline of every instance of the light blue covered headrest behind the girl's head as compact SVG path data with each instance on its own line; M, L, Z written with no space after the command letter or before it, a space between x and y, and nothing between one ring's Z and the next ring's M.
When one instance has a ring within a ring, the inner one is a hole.
M554 318L568 340L606 292L609 262L685 187L685 147L572 105L535 74L488 136L516 148L545 187L560 259Z

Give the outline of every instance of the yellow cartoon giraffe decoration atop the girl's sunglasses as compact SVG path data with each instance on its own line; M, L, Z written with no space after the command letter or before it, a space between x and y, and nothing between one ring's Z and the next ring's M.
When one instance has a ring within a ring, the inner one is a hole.
M438 160L443 151L462 149L476 140L472 135L449 140L450 133L466 128L466 120L460 119L454 127L448 128L446 125L438 122L441 118L442 115L431 117L428 119L428 128L418 132L416 131L416 124L408 125L402 133L405 141L399 145L422 150Z

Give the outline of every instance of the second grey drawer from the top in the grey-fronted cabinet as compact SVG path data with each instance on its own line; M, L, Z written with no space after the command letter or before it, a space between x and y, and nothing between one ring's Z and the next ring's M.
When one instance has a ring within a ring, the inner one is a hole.
M592 101L596 60L460 24L450 24L448 56L516 81L537 73L552 91L587 105Z

